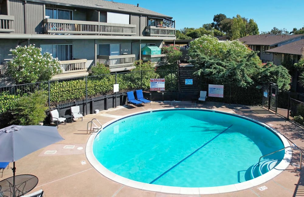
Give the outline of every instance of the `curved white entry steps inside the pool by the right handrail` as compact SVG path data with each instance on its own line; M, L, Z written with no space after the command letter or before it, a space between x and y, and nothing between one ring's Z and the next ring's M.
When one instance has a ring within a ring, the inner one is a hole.
M265 174L266 172L269 172L271 169L275 168L276 165L278 165L282 159L264 159L260 162L260 165L256 163L251 168L251 177L257 178L258 176L261 176Z

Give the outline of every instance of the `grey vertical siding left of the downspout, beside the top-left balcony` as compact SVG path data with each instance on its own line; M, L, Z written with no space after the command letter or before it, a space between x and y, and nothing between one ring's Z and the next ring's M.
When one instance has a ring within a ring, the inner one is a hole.
M14 27L16 34L24 34L24 5L20 0L9 0L10 15L15 16Z

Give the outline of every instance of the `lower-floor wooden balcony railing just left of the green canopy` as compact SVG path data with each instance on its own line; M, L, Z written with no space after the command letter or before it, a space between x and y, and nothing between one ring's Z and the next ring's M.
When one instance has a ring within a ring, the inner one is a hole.
M133 65L135 55L97 55L97 62L111 68L127 67Z

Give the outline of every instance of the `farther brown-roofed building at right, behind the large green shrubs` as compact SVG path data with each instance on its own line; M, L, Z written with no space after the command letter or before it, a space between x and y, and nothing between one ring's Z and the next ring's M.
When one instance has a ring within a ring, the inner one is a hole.
M249 35L239 38L241 42L251 48L253 51L259 51L257 54L263 63L274 62L274 54L268 52L269 49L296 42L304 38L303 34L298 35L274 35L261 34ZM278 64L280 65L280 64Z

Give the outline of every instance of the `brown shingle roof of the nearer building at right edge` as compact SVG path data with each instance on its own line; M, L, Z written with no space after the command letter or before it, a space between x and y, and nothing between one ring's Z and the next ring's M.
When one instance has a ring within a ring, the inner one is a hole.
M271 48L266 52L271 53L287 53L293 55L302 55L302 48L304 48L304 39L298 40L286 45L282 45L279 47Z

